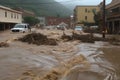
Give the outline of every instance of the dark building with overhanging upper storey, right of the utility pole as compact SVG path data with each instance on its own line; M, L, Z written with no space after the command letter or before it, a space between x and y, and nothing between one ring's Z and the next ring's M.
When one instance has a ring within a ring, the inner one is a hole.
M112 2L106 6L106 10L108 33L120 33L120 0L112 0Z

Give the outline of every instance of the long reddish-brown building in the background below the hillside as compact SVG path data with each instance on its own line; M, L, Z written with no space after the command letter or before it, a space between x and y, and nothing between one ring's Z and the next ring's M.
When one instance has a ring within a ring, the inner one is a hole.
M71 19L68 18L59 18L59 17L46 17L46 25L47 26L57 26L60 23L64 22L70 27Z

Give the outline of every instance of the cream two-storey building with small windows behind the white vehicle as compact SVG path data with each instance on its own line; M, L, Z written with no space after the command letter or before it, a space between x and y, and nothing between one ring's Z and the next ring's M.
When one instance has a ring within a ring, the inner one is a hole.
M0 30L10 29L16 23L22 22L22 12L0 6Z

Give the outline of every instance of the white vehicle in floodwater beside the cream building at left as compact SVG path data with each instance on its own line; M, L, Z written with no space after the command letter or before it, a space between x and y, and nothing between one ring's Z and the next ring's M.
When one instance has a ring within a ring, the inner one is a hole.
M29 24L21 23L21 24L16 24L12 29L12 32L29 32L31 31L31 28Z

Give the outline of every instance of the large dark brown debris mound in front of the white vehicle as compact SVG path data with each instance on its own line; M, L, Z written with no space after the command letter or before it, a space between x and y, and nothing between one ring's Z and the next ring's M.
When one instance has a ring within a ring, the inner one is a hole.
M18 40L22 42L27 42L29 44L37 44L37 45L57 45L57 41L52 38L47 38L46 35L41 33L31 33L27 34Z

